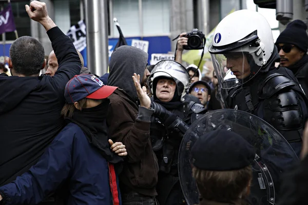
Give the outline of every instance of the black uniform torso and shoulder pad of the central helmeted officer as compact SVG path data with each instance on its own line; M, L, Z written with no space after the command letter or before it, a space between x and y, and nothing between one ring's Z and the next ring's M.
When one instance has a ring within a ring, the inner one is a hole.
M206 112L204 106L184 101L178 109L169 111L180 117L188 126ZM178 154L183 134L167 128L164 122L152 116L150 126L152 149L159 163L158 201L160 204L186 204L178 173Z

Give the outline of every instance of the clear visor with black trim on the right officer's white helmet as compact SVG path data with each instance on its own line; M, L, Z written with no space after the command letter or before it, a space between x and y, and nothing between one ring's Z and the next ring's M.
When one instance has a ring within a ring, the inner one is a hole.
M229 45L211 44L208 51L221 88L235 88L252 79L266 64L263 48L256 31Z

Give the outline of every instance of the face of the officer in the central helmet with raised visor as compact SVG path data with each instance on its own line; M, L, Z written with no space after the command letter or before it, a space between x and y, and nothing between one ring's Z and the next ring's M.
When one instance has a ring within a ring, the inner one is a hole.
M161 78L157 81L156 97L163 102L169 102L175 95L176 87L173 79Z

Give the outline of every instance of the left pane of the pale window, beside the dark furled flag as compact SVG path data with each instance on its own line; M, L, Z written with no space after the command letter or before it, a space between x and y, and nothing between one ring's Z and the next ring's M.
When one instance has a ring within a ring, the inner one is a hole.
M139 36L139 3L138 0L113 0L112 18L117 18L123 35ZM111 19L112 20L112 19ZM119 37L117 27L113 24L113 37Z

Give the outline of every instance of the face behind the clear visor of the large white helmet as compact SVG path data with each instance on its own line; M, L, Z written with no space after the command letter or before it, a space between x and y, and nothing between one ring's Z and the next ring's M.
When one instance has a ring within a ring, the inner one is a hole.
M244 79L251 73L247 57L241 52L229 52L224 54L227 58L227 69L230 69L238 79Z

